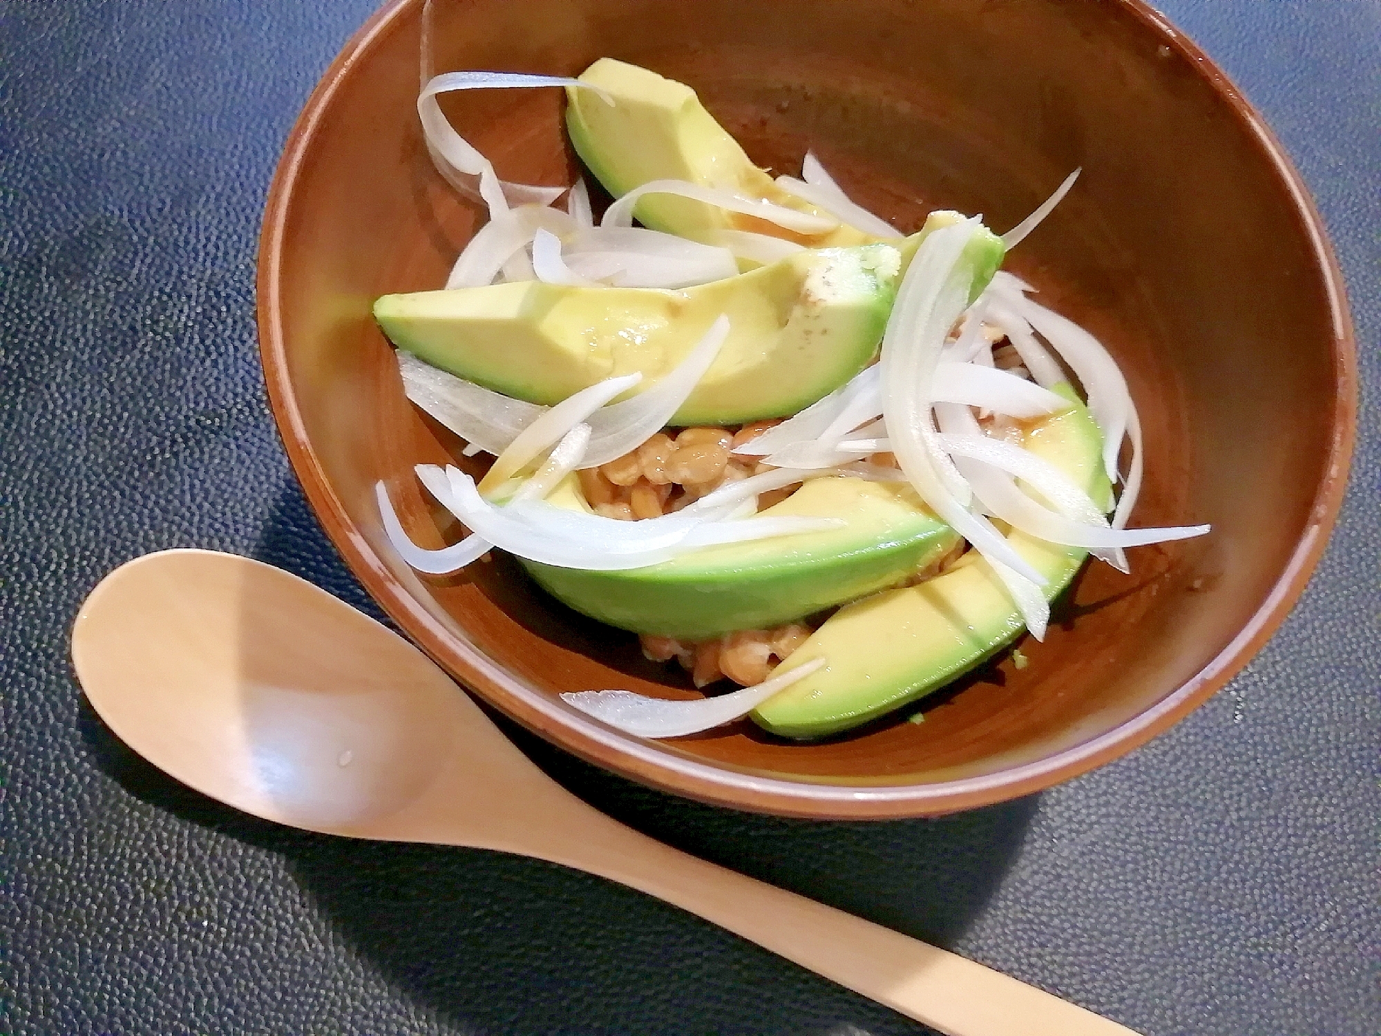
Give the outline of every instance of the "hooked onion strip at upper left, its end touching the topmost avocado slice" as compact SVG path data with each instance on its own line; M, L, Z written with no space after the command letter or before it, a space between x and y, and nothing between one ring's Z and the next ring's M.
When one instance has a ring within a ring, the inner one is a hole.
M432 76L417 97L417 116L421 119L423 137L427 140L427 151L431 153L436 170L452 186L463 193L478 193L481 200L489 206L490 217L508 211L508 198L505 193L512 193L519 203L534 202L537 204L551 204L551 202L561 196L565 188L544 188L500 181L489 159L456 133L446 115L441 111L436 95L454 90L512 90L555 86L594 90L606 104L613 104L613 98L605 90L579 79L526 76L511 72L446 72ZM478 191L467 177L478 177Z

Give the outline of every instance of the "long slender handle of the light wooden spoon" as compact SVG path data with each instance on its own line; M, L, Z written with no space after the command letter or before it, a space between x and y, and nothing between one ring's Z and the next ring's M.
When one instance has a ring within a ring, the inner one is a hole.
M594 808L523 851L689 910L946 1036L1137 1036L936 946L690 856Z

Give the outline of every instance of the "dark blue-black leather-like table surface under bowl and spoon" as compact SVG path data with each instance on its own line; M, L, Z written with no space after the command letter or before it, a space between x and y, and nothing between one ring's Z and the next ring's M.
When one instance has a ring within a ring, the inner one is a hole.
M597 879L242 818L84 706L72 617L145 551L249 553L377 613L289 472L253 326L279 148L371 6L0 0L3 1030L918 1032ZM1266 649L1130 757L938 822L736 815L522 743L649 833L1146 1036L1374 1036L1381 3L1163 10L1294 155L1359 332L1348 503Z

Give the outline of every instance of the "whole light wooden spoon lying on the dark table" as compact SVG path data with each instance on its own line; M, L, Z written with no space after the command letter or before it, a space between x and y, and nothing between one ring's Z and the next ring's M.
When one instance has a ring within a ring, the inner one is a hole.
M533 765L412 644L269 565L202 550L131 561L86 599L72 659L131 749L254 816L599 874L950 1036L1131 1033L605 816Z

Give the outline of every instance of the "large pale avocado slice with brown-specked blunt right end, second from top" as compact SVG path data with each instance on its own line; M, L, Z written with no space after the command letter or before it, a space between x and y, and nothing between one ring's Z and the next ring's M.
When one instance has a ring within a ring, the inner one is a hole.
M635 392L655 385L726 314L728 340L671 423L743 424L794 414L867 366L900 261L891 244L867 244L805 250L679 290L525 280L418 291L383 296L374 319L434 366L532 403L559 403L635 370L644 374Z

